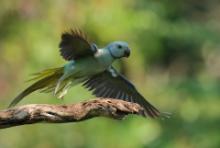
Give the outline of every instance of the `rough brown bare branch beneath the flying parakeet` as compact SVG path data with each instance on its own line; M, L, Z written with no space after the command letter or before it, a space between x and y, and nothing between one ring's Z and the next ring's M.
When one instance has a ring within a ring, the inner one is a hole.
M39 122L79 122L99 116L121 120L128 114L145 117L140 105L116 99L97 98L72 105L31 104L0 111L0 129Z

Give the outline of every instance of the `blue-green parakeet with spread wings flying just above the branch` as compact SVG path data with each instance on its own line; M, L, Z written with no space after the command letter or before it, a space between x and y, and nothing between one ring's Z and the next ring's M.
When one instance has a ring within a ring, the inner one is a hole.
M128 58L131 49L125 41L113 41L103 48L91 43L85 33L71 29L62 33L59 44L60 55L68 62L62 67L46 69L35 73L35 81L10 103L15 106L32 92L52 92L63 98L69 88L82 84L98 98L121 99L137 103L146 116L156 118L162 113L149 103L136 87L113 66L113 62Z

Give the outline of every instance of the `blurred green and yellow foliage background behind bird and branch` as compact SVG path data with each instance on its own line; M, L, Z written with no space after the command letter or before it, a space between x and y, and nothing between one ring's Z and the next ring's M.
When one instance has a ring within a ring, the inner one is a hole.
M62 32L81 28L99 47L127 41L116 66L168 120L129 116L36 124L0 131L1 148L219 148L219 0L1 0L0 109L30 75L66 62ZM33 93L21 104L67 104L93 98L81 86L64 100Z

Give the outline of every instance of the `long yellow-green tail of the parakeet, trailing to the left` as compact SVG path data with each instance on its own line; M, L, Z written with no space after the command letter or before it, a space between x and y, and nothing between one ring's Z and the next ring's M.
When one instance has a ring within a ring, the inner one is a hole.
M58 79L63 75L63 67L47 69L42 72L34 74L35 77L32 80L36 81L31 86L26 88L23 92L21 92L14 100L11 102L9 107L15 106L18 102L20 102L25 96L30 93L41 90L41 92L51 92L57 85Z

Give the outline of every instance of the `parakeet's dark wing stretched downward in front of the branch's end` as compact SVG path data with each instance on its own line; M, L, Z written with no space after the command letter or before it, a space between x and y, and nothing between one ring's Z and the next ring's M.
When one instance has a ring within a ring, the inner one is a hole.
M159 117L160 111L136 90L135 86L113 67L88 79L84 84L96 97L115 98L137 103L150 117ZM146 114L145 114L146 115Z

